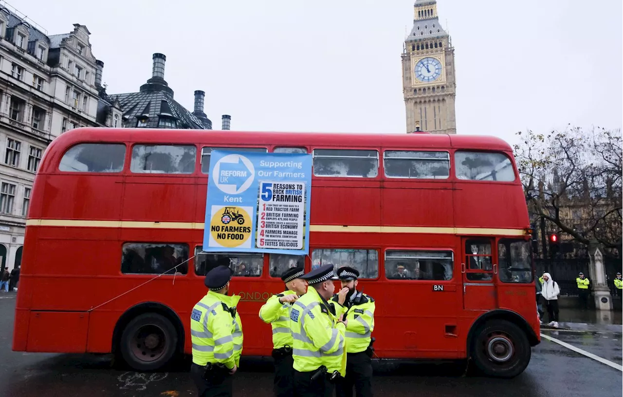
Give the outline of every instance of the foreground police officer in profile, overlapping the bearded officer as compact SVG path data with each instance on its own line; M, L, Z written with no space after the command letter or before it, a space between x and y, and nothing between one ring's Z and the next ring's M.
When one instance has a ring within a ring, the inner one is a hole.
M346 373L344 334L348 322L327 302L337 279L333 265L318 267L301 278L309 287L290 311L294 395L330 397L335 382Z

